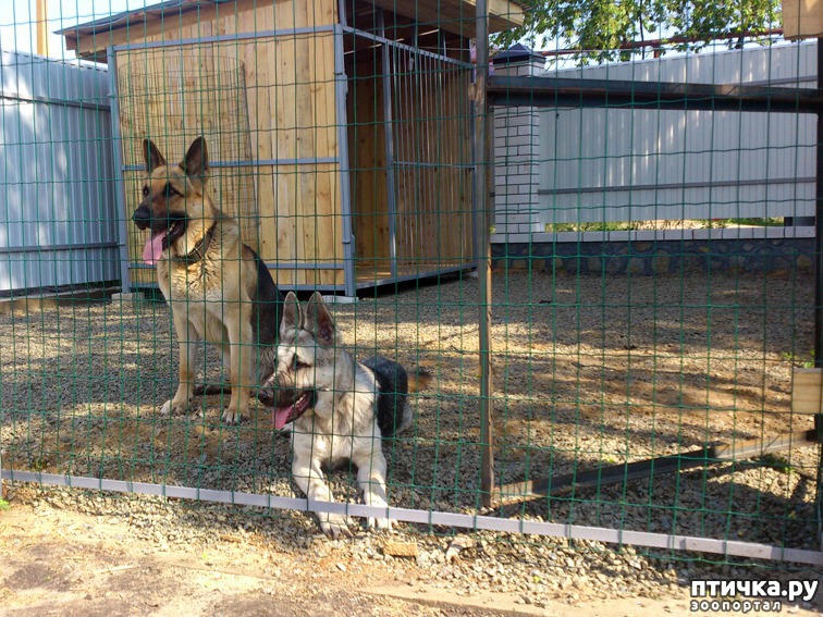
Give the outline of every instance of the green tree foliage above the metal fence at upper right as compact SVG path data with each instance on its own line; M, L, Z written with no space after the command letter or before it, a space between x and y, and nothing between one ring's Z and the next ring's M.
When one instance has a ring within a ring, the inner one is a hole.
M699 49L712 40L741 46L779 26L779 0L523 0L526 24L493 41L531 47L551 41L580 50L581 63L617 60L632 41L670 39L668 49Z

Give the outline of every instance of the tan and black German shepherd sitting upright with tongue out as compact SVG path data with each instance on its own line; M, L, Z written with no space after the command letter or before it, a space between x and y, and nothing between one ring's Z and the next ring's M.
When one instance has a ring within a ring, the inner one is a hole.
M223 420L239 422L248 415L250 388L274 370L283 296L262 260L241 242L237 222L206 194L209 159L204 138L195 139L176 165L167 164L148 139L143 152L143 201L133 219L140 230L151 231L143 259L157 264L180 344L177 391L161 414L184 412L194 395L226 390L194 386L197 347L206 341L220 351L231 375Z

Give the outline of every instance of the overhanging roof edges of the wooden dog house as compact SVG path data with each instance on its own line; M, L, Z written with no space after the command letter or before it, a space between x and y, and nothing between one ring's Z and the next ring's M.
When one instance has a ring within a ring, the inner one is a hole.
M310 1L310 0L305 0ZM274 3L275 0L168 0L133 11L123 11L109 17L77 24L58 30L65 37L66 48L79 58L106 61L109 45L125 42L127 33L139 36L153 32L163 23L189 24L208 20L221 4L223 11L253 10ZM404 17L470 38L475 36L476 0L373 0L376 7L392 11ZM512 0L488 0L489 32L501 32L523 25L523 8ZM174 20L174 22L171 22Z

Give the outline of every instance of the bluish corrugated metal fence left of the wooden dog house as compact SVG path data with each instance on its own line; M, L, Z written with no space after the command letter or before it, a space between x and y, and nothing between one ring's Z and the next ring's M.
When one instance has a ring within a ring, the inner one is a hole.
M0 52L0 295L120 277L105 67Z

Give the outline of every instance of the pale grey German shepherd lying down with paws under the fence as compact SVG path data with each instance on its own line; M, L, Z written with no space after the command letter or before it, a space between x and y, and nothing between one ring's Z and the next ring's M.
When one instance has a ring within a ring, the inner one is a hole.
M351 459L365 503L388 507L381 437L412 424L406 395L431 378L419 372L409 379L402 366L385 358L357 362L340 343L320 294L315 293L304 310L290 292L283 304L277 370L258 398L273 408L277 429L291 423L292 476L310 499L333 502L321 467L331 469ZM318 517L327 535L352 535L345 516ZM392 528L388 518L370 518L368 526Z

